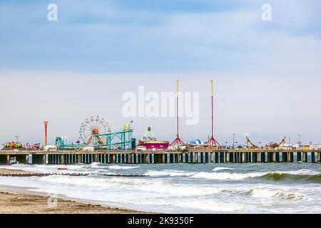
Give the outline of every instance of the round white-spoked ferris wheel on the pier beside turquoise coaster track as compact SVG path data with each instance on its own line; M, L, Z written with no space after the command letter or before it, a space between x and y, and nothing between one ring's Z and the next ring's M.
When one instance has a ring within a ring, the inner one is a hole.
M81 128L79 130L80 139L85 145L105 144L100 135L110 132L111 129L109 128L106 120L99 116L91 116L91 118L87 118L83 123L81 123Z

